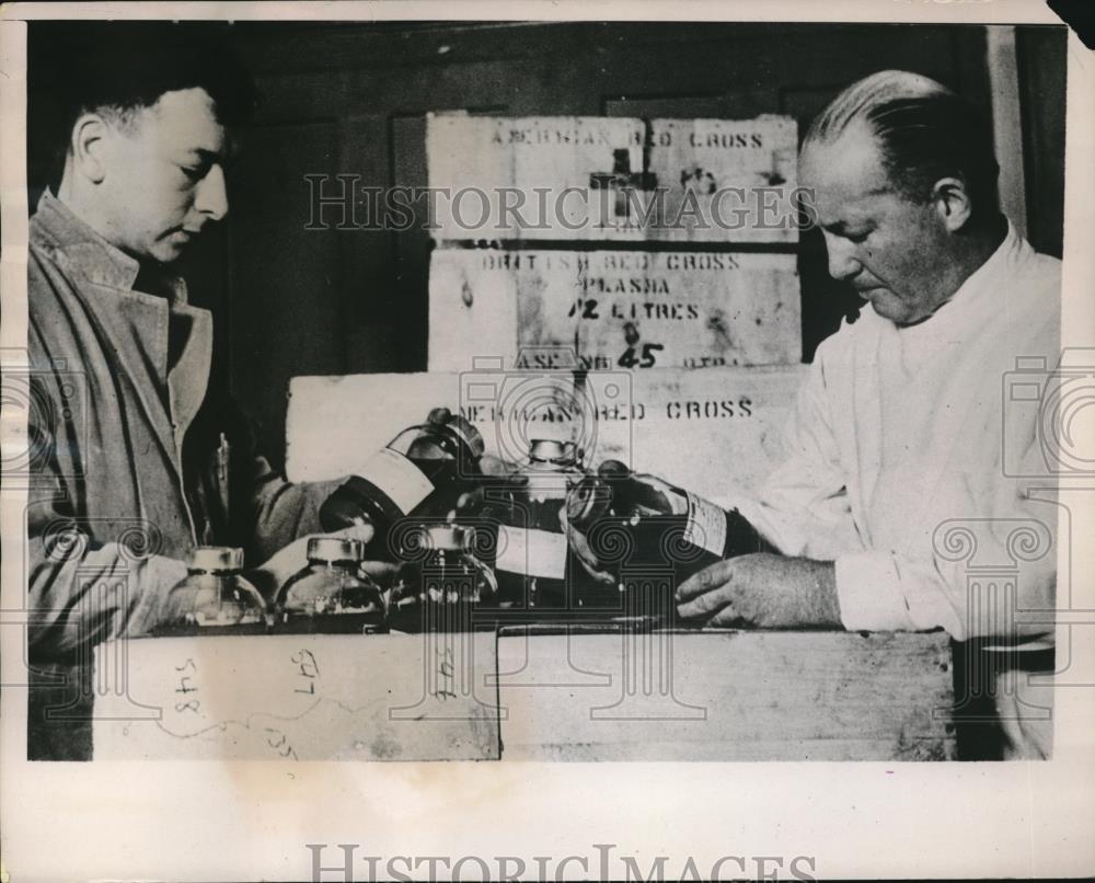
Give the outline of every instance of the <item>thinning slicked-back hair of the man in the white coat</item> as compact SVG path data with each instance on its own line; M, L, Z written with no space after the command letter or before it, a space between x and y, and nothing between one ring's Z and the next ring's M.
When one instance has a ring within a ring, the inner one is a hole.
M853 123L874 135L895 188L914 202L931 198L941 177L957 176L978 216L996 211L992 130L970 102L935 80L884 70L853 83L814 121L804 147L833 141Z

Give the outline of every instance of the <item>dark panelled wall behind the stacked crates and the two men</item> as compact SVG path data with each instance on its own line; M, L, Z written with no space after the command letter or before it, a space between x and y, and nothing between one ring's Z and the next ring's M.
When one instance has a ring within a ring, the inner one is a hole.
M36 121L49 108L35 87L66 27L72 26L30 27L32 199L48 182L47 127ZM303 228L307 174L426 186L429 111L781 113L805 131L850 82L902 68L950 85L991 114L986 31L971 25L287 23L232 31L264 101L230 180L231 215L185 270L193 300L216 313L217 348L233 391L276 462L290 377L426 367L428 234ZM1028 238L1058 255L1064 45L1063 27L1017 28ZM825 267L820 234L806 233L799 271L807 360L856 302Z

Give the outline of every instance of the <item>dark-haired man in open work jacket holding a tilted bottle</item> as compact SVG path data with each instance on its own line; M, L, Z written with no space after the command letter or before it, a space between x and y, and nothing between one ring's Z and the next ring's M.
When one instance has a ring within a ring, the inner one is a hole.
M87 756L85 715L62 714L66 734L45 707L77 680L90 702L88 647L151 630L195 544L243 547L268 597L334 488L289 484L256 451L212 369L212 318L172 270L228 213L253 85L200 31L126 37L70 83L60 183L31 219L30 655L69 681L32 689L32 758Z

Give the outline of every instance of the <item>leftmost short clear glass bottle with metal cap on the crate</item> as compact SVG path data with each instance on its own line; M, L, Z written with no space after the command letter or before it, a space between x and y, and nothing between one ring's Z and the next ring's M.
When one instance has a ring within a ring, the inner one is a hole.
M157 634L263 634L266 603L243 575L243 550L198 546L168 594Z

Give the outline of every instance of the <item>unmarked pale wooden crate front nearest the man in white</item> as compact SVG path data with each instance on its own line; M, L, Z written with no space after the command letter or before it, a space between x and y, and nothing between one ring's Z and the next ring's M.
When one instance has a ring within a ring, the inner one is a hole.
M942 633L503 634L504 756L954 759L949 665Z

